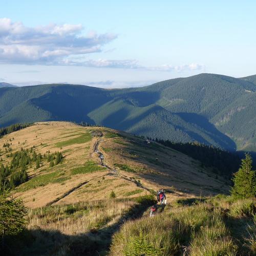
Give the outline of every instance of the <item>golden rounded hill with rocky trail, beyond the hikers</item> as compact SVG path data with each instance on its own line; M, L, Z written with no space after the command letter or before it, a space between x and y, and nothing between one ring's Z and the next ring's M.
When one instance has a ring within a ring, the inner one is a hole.
M4 166L10 165L16 152L28 150L31 159L33 152L42 156L39 167L33 161L27 166L29 180L14 190L15 196L22 197L32 208L103 200L111 190L117 199L122 199L151 194L152 189L164 187L168 200L174 200L200 193L226 193L229 189L224 179L217 180L216 174L182 153L157 143L145 144L139 137L104 127L37 123L4 136L0 148L5 143L11 144L6 152L0 152ZM56 151L64 158L51 167L46 159ZM98 151L104 156L103 166Z

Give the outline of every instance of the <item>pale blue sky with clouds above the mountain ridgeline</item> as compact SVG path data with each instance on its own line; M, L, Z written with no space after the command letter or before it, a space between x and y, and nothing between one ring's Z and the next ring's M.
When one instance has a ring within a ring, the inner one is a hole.
M0 82L140 87L255 60L254 0L0 0Z

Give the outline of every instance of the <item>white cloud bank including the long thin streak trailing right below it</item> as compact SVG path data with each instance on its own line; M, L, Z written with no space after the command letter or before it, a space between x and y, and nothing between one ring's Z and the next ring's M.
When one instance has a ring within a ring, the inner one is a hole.
M35 28L21 22L0 18L0 63L27 65L62 65L92 68L140 69L149 71L181 72L203 70L204 66L191 63L181 66L146 67L135 59L88 59L86 54L101 52L102 47L117 35L82 34L81 24L49 24Z

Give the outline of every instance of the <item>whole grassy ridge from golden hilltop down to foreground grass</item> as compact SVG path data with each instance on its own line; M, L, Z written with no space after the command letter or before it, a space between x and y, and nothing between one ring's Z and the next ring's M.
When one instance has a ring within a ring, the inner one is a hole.
M0 139L1 164L15 165L18 154L15 172L22 156L31 159L28 181L12 193L28 216L26 230L6 238L6 254L253 253L254 203L208 197L227 194L228 181L172 148L106 127L39 122ZM148 218L159 188L167 205Z

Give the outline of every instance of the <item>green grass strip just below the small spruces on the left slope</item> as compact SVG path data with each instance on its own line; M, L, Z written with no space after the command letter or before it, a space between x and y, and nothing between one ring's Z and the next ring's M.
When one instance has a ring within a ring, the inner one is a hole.
M24 192L32 188L46 186L49 183L61 183L68 179L69 177L63 176L63 173L59 171L49 173L49 174L39 175L18 186L17 191Z

